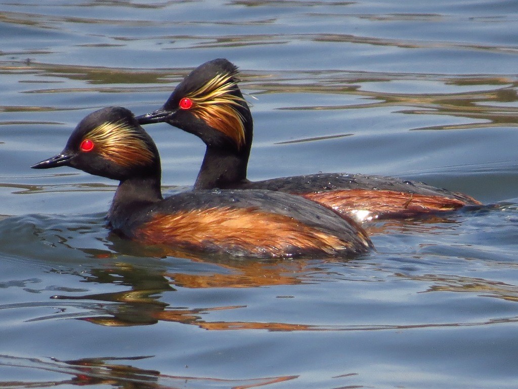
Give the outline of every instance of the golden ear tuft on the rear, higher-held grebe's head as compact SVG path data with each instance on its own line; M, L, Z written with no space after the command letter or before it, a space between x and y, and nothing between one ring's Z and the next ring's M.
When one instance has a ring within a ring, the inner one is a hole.
M194 116L227 135L239 149L244 145L244 118L238 107L244 99L231 93L237 88L235 75L218 74L185 97L193 102Z

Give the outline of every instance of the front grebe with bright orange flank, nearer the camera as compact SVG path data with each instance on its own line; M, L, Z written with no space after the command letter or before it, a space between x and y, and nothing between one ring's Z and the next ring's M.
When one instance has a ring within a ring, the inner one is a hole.
M91 113L63 151L31 167L58 166L118 180L108 225L146 244L252 257L350 256L372 247L354 221L286 193L199 190L164 199L156 145L123 107Z

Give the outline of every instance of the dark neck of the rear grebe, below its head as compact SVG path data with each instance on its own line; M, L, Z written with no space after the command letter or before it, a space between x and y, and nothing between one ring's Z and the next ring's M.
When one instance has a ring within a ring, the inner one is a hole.
M234 187L237 183L246 182L249 156L250 144L245 145L240 151L207 146L194 188L226 189Z

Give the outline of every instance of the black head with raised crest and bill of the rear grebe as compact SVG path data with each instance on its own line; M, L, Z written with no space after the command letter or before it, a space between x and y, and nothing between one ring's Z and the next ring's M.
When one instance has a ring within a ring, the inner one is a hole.
M138 116L140 124L167 122L200 137L209 147L247 152L252 116L237 86L237 67L219 58L193 70L161 109Z

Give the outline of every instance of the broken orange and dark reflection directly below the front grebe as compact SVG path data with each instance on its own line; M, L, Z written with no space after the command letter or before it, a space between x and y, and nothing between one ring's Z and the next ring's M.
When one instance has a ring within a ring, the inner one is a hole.
M118 242L118 240L115 240ZM119 247L120 248L120 247ZM120 253L121 251L119 251ZM156 247L153 247L156 255ZM162 255L169 253L163 252ZM109 256L97 253L96 256ZM185 256L184 256L185 257ZM89 274L78 274L86 282L96 284L117 284L130 287L129 290L88 295L56 295L56 300L81 300L80 313L64 316L77 318L104 326L151 325L159 321L196 325L205 329L263 328L270 330L300 330L305 325L287 323L236 323L207 322L204 313L211 311L246 308L246 305L222 305L207 308L172 308L161 300L164 293L182 288L251 288L270 285L296 285L311 281L315 273L322 275L319 264L324 260L265 260L229 259L223 257L191 257L194 264L209 264L218 269L199 272L193 266L193 273L168 272L162 269L145 268L124 262L112 262L110 266L98 267ZM103 304L95 303L103 301ZM94 314L92 314L94 311ZM88 314L85 314L88 312ZM204 318L202 318L204 317Z

